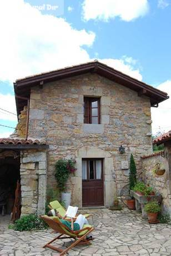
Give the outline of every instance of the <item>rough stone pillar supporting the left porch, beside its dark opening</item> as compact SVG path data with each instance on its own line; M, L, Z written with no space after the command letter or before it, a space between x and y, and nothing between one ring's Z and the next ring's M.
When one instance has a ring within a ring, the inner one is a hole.
M47 186L46 150L24 150L21 152L22 215L44 214Z

